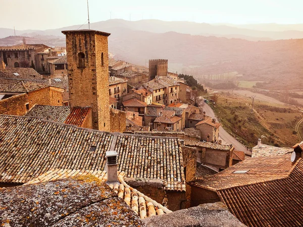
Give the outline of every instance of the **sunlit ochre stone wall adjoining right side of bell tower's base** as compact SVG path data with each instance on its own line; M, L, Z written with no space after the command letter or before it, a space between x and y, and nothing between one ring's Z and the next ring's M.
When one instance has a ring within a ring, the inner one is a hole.
M126 112L118 109L110 109L111 132L121 132L126 130Z

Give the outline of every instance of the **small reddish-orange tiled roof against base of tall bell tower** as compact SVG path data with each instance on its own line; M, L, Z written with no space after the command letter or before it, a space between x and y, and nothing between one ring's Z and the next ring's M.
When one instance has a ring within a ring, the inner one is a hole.
M85 120L88 118L90 112L90 106L73 107L64 123L68 125L75 125L77 127L83 127Z

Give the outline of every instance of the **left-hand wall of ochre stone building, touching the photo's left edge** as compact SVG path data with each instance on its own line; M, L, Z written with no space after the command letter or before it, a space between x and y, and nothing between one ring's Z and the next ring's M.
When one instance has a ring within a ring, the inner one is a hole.
M26 93L0 100L0 114L23 116L27 112L26 103L28 103Z

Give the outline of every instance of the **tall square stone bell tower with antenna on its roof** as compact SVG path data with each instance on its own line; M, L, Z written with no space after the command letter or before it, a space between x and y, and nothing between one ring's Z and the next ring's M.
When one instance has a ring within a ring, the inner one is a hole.
M62 31L66 35L71 109L91 106L92 128L110 131L108 36L95 30Z

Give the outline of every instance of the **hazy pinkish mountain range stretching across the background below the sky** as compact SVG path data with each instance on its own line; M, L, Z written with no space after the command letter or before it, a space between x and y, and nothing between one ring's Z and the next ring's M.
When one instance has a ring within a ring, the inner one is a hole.
M28 36L28 43L62 46L65 37L61 31L79 27L16 31L16 34ZM271 27L279 31L247 27ZM168 59L170 71L196 78L237 71L243 74L242 79L268 81L268 88L296 89L294 85L303 86L303 39L295 38L303 38L303 31L288 28L303 30L303 25L210 25L158 20L91 23L91 29L112 33L109 50L116 59L143 66L149 59ZM2 36L14 34L12 29L2 30ZM0 39L0 45L12 45L20 40L22 37L10 36Z

